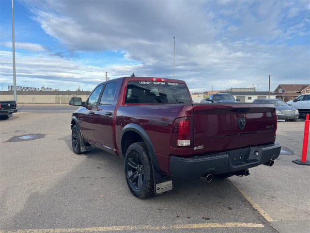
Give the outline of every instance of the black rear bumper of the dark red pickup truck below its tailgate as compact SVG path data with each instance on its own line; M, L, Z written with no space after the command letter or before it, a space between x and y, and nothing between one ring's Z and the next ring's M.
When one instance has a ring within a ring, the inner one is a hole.
M172 176L183 178L201 177L206 173L218 175L236 172L277 159L280 150L280 144L272 143L193 158L171 156L170 172Z

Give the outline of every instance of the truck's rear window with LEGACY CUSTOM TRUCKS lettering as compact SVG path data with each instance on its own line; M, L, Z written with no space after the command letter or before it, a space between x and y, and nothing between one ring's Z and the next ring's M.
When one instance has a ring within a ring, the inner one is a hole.
M129 81L125 103L191 103L184 83Z

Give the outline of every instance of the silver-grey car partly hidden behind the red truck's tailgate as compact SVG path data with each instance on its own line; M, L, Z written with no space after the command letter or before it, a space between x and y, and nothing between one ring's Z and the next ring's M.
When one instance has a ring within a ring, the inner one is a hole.
M297 109L291 107L286 102L278 99L257 99L253 103L273 103L276 106L276 114L278 119L289 119L295 121L299 118Z

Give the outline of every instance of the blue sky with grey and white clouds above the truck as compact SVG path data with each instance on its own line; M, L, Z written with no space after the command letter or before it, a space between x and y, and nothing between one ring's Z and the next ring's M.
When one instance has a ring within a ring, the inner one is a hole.
M92 90L130 76L191 91L310 83L309 0L14 0L16 83ZM12 2L0 0L0 89L13 85Z

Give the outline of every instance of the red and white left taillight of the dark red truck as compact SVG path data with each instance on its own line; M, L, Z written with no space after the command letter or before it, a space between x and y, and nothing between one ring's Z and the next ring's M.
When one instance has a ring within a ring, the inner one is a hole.
M177 118L173 122L172 146L189 147L192 143L192 119L190 117Z

